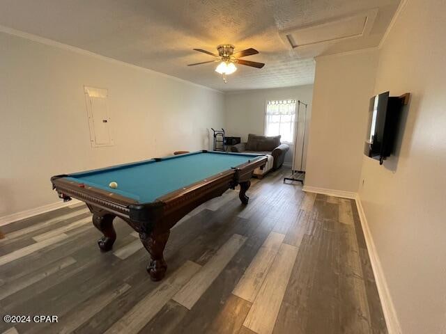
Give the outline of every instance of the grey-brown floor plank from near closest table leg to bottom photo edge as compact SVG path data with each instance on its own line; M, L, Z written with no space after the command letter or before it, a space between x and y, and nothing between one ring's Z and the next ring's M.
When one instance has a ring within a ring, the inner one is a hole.
M132 308L130 312L117 321L105 333L132 334L141 331L141 328L144 328L148 321L151 321L164 304L167 303L167 301L169 301L169 299L171 299L183 285L187 284L200 268L201 266L199 266L199 264L187 261L174 275L163 280L151 294L148 294L148 296L141 299L137 305L134 305L134 308Z

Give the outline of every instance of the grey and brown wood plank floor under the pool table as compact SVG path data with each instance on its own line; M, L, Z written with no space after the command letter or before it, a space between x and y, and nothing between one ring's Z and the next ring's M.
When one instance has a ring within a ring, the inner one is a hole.
M57 315L0 333L387 333L353 200L304 193L286 170L228 191L171 232L166 278L116 219L100 253L84 205L3 228L1 315Z

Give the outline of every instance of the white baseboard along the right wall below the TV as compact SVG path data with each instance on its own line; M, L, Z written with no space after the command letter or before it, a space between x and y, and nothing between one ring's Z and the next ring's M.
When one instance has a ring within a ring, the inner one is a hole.
M362 232L364 233L364 239L367 244L367 250L369 252L371 268L374 271L376 287L378 288L378 294L381 301L381 306L383 307L383 313L385 317L385 324L387 325L387 331L389 334L401 334L401 326L399 326L399 321L397 317L397 312L395 311L392 297L390 296L389 289L387 287L387 282L385 280L383 267L381 267L381 262L376 252L374 239L371 237L371 232L369 229L369 223L365 216L364 208L362 207L360 196L357 195L355 198L357 212L360 216Z

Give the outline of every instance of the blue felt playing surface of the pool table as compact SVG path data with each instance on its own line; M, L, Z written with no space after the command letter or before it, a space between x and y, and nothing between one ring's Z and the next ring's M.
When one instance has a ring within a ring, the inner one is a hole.
M138 202L155 199L206 177L222 173L261 155L224 152L192 152L161 161L154 159L70 174L67 180L110 191ZM118 188L109 187L116 182Z

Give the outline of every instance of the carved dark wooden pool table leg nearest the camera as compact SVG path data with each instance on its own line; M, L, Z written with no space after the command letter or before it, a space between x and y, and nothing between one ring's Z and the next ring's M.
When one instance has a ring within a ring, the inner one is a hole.
M150 234L146 232L139 232L139 239L151 255L151 262L147 266L147 272L151 276L151 280L162 280L164 277L167 264L164 260L164 247L169 239L170 230L167 232L152 231Z

